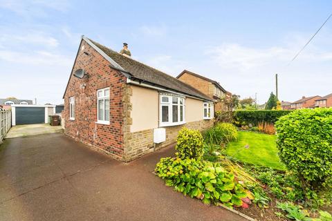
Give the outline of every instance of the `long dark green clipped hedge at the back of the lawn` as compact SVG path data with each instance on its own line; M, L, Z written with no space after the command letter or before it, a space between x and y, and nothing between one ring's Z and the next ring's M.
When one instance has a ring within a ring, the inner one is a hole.
M282 110L259 110L259 111L234 111L234 124L237 126L249 125L257 126L259 122L268 122L274 124L279 117L288 115L292 111Z

